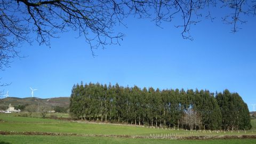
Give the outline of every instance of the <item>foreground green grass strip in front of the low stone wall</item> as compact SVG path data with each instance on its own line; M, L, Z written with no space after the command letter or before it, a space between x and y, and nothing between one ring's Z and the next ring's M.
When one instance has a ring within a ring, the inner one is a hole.
M231 144L231 143L255 143L254 139L243 140L167 140L167 139L125 139L105 137L60 137L60 136L27 136L27 135L0 135L0 144L7 143L190 143L190 144Z

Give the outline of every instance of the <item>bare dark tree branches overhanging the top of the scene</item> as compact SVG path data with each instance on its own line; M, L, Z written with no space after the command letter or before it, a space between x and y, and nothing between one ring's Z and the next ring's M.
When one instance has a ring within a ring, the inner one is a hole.
M213 21L212 7L228 8L222 20L232 32L246 22L245 16L256 14L255 0L0 0L0 69L19 57L17 47L23 43L35 39L50 46L51 38L70 30L84 37L94 55L98 47L120 44L124 34L115 26L126 27L123 19L129 15L150 18L159 27L175 18L181 36L193 39L191 26L204 17Z

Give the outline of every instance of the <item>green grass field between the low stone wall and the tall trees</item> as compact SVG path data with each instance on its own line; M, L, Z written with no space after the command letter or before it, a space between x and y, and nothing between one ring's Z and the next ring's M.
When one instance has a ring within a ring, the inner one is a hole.
M58 132L58 133L82 133L82 134L115 134L115 135L222 135L224 132L210 131L185 131L170 129L153 129L147 127L114 125L114 124L91 124L61 121L56 119L43 119L35 117L19 117L1 114L0 131L16 132ZM253 134L254 131L226 132L225 134ZM256 131L255 131L256 133Z

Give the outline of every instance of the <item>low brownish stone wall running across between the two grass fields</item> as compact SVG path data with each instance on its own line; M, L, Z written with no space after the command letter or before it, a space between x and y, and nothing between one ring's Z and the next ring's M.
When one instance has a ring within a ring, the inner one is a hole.
M142 135L104 135L104 134L79 134L79 133L53 133L53 132L5 132L0 131L0 135L51 135L51 136L79 136L79 137L113 137L132 139L172 139L172 140L215 140L215 139L256 139L256 135L204 135L187 137L150 137Z

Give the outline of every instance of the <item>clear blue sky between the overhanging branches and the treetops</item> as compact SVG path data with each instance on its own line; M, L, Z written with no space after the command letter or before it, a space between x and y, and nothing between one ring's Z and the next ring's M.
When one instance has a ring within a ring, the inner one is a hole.
M0 71L0 87L11 97L30 97L29 87L38 89L35 97L69 97L74 84L138 85L160 89L208 89L211 92L238 92L252 110L256 103L256 20L247 19L238 33L231 26L204 20L191 27L194 41L182 39L173 23L163 28L147 19L129 18L121 46L95 50L76 32L61 34L47 46L23 45L11 68Z

